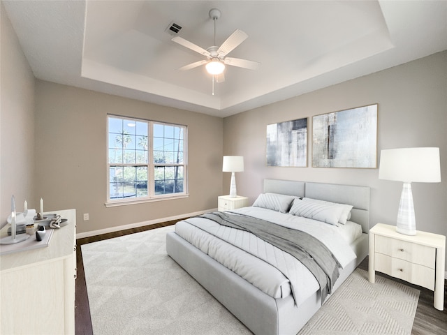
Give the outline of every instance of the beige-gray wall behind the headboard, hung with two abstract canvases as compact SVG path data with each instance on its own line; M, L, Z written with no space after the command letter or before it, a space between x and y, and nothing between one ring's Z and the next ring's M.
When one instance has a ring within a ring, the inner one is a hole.
M364 185L371 188L371 226L395 225L402 183L379 180L379 169L312 168L312 116L378 106L378 152L399 147L439 147L441 183L413 183L416 228L447 235L447 52L250 110L223 121L223 154L244 156L237 194L253 202L264 178ZM308 167L265 165L266 126L308 118ZM378 163L379 166L379 163ZM230 184L223 175L223 188Z

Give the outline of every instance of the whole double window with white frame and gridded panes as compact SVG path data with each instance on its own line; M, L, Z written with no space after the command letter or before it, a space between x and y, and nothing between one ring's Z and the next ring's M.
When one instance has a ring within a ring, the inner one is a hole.
M108 116L108 202L186 195L186 126Z

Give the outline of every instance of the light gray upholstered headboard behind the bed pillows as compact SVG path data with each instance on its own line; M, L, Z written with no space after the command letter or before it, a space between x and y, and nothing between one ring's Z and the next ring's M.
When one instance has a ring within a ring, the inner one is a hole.
M264 192L295 195L340 204L351 204L351 221L369 232L369 187L323 184L309 181L264 179Z

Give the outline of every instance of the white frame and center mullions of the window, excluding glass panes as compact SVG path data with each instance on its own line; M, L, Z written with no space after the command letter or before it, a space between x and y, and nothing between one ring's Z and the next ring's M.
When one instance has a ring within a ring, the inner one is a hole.
M147 123L147 164L143 163L110 163L109 160L109 117L116 119L126 119L131 121L140 121ZM183 140L183 163L182 164L168 164L168 163L154 163L154 124L161 124L166 126L177 126L182 127L184 130ZM147 119L138 119L135 117L125 117L122 115L115 114L107 114L106 118L107 132L106 132L106 150L107 150L107 193L106 193L106 201L105 207L115 207L115 206L124 206L129 204L140 204L144 202L155 202L161 200L173 200L179 198L188 198L188 154L187 154L187 139L188 139L188 127L182 124L171 124L168 122L162 121L154 121ZM118 199L110 199L110 166L121 165L121 166L147 166L147 196L145 197L135 197L135 198L118 198ZM182 166L183 168L183 192L179 193L168 193L168 194L155 194L155 167L156 166Z

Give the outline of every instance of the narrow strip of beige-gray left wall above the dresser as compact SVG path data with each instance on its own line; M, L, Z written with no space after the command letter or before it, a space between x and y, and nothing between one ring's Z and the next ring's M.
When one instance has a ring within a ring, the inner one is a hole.
M24 57L15 31L1 12L0 96L0 227L10 215L15 196L17 211L34 196L34 75Z

